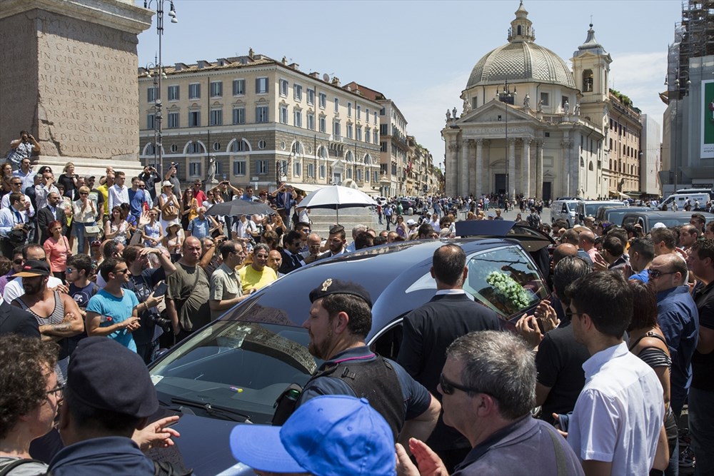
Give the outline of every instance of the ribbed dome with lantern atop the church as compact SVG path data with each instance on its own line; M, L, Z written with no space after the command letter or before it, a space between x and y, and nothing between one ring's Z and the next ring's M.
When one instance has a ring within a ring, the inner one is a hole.
M575 88L573 74L557 54L535 44L535 29L523 1L508 30L508 43L483 56L471 71L466 88L503 83L556 83Z

